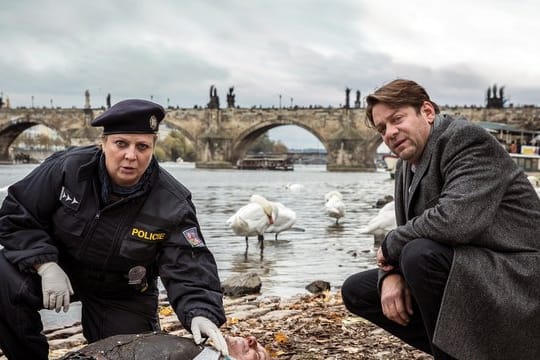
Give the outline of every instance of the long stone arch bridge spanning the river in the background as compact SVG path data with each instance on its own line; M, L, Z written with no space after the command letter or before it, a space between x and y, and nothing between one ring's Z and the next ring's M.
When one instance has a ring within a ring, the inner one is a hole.
M0 109L0 161L9 162L11 143L24 130L41 124L55 130L66 145L96 142L100 131L90 121L103 109ZM540 129L539 108L448 108L443 112L473 121L494 121ZM192 142L196 166L230 168L263 133L296 125L312 133L327 150L329 171L373 171L380 136L364 123L362 108L168 109L164 122Z

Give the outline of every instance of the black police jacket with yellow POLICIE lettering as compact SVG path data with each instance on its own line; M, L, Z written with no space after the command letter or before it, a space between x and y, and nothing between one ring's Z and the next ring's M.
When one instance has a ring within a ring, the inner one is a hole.
M194 316L224 323L217 266L190 192L156 166L141 191L102 206L101 154L96 146L56 153L9 187L0 210L6 258L21 271L65 262L76 264L66 271L70 278L89 270L120 275L124 282L134 266L144 266L150 276L156 269L153 276L159 272L186 328Z

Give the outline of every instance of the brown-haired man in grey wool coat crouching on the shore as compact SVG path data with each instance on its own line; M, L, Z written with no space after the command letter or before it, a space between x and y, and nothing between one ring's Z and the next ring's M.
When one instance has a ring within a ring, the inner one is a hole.
M347 308L435 359L540 358L540 199L497 139L394 80L367 121L399 156L398 226Z

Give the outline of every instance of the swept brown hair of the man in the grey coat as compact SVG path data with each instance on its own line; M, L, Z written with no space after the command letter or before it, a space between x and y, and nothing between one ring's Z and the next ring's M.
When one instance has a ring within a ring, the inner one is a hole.
M439 106L429 98L427 91L416 82L406 79L396 79L383 85L373 94L366 98L366 125L374 128L373 107L379 103L385 104L392 109L403 106L412 106L416 113L420 113L420 108L424 101L430 102L435 108L435 113L440 112Z

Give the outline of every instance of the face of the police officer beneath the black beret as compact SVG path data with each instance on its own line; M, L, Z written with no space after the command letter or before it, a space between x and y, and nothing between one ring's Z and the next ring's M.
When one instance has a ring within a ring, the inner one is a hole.
M105 167L111 180L120 186L133 186L152 160L154 134L112 134L102 142Z

